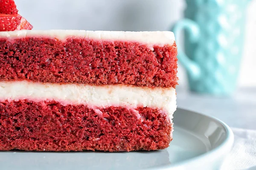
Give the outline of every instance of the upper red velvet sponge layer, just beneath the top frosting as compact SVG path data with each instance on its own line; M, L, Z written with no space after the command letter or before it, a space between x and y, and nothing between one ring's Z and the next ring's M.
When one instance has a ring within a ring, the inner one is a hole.
M153 48L83 38L0 39L0 80L175 88L176 44Z

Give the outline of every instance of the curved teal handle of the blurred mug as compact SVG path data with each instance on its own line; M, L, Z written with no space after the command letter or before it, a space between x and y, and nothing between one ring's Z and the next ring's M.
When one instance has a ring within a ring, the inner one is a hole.
M183 29L189 32L189 40L191 42L197 42L199 40L200 29L197 23L189 19L178 21L172 28L175 37L180 37L180 33L183 31ZM183 50L180 48L181 45L179 40L176 40L176 44L178 47L177 58L179 59L180 63L185 67L186 71L193 79L199 79L201 76L201 69L199 65L189 59L189 57L183 52Z

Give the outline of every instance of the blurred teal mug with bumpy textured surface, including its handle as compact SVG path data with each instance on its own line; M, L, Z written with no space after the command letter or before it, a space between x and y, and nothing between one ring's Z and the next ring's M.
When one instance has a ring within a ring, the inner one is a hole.
M186 0L185 19L172 28L185 30L184 51L176 40L178 59L198 93L230 95L236 89L249 0Z

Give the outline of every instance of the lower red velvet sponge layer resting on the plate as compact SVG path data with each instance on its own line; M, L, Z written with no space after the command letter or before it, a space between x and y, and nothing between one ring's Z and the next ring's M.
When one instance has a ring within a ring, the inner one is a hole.
M0 150L131 151L169 146L172 124L152 108L84 105L55 101L0 102Z

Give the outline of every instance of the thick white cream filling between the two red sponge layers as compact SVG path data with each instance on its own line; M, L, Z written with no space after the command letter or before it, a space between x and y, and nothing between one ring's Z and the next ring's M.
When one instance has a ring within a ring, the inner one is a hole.
M63 105L83 104L105 108L138 106L159 108L172 118L176 110L175 88L148 88L129 85L54 84L29 81L0 82L0 100L55 100Z

